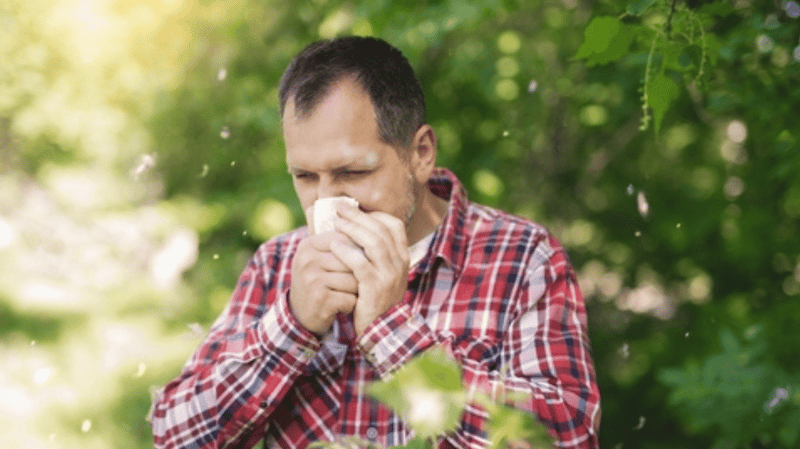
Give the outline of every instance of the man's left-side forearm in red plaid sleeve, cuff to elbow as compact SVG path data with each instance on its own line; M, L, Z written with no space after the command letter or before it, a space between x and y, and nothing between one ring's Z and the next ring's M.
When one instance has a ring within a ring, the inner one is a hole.
M155 404L156 447L250 447L308 366L319 342L285 298L244 331L210 336Z

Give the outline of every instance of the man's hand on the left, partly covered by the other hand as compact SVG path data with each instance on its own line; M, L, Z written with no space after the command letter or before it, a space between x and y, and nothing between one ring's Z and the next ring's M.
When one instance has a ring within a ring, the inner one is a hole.
M332 242L352 244L338 232L312 234L300 242L292 261L289 304L297 321L317 336L330 329L337 313L352 313L356 306L358 282L331 252Z

